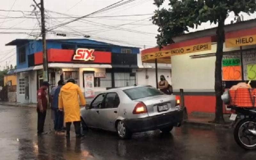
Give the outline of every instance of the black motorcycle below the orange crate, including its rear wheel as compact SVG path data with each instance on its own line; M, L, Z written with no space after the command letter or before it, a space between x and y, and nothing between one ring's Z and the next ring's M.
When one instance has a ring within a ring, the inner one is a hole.
M256 149L256 109L229 106L233 112L230 120L235 126L234 138L244 149Z

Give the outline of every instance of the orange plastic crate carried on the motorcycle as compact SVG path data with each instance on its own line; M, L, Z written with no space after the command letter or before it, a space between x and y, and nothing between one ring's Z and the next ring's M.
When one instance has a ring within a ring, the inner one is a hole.
M251 92L251 94L250 94ZM230 105L238 107L256 107L256 90L248 88L238 88L237 90L229 91ZM253 105L254 101L254 105Z

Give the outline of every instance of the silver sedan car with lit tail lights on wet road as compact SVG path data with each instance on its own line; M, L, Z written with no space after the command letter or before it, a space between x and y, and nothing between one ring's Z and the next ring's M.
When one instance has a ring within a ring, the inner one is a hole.
M83 125L117 132L121 139L135 132L170 132L173 126L180 126L182 116L175 95L166 95L152 86L110 89L81 108Z

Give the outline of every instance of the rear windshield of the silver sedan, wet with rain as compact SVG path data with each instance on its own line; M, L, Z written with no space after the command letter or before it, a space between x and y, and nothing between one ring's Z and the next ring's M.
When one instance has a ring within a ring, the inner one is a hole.
M164 93L152 86L136 87L124 90L124 93L130 97L131 100L137 100L146 97L163 95Z

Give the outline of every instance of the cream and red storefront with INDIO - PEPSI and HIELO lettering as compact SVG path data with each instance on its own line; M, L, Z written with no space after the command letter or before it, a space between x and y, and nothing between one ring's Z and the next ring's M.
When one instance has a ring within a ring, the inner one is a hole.
M226 25L225 32L223 88L248 80L252 80L252 87L256 87L256 20ZM172 87L176 95L179 95L180 89L184 89L188 113L215 113L215 35L216 28L192 32L175 37L176 43L161 51L142 51L145 56L142 55L142 59L155 53L171 56ZM224 105L223 111L229 113Z

